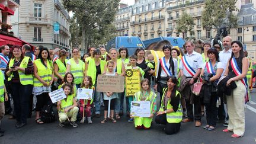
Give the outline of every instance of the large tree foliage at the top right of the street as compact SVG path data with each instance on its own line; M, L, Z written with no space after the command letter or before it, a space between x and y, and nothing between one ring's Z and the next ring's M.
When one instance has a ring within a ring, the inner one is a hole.
M202 14L203 28L227 28L237 26L237 17L233 14L238 11L235 7L237 0L206 0Z

